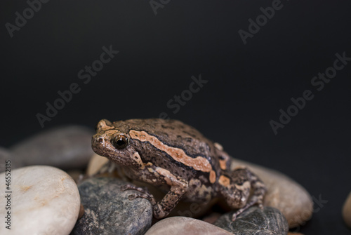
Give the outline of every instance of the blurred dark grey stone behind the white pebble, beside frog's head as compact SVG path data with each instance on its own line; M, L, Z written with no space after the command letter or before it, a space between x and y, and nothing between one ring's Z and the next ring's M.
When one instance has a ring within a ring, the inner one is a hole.
M11 147L11 151L25 166L85 168L93 155L92 135L93 131L84 126L62 126L29 137Z

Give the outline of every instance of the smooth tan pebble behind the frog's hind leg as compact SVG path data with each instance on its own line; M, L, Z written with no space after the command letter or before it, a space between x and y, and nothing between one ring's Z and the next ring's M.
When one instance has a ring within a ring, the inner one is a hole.
M252 163L233 159L231 169L236 166L248 166L267 186L264 206L280 210L288 221L289 227L303 225L310 219L313 202L310 194L300 184L276 170L257 166Z

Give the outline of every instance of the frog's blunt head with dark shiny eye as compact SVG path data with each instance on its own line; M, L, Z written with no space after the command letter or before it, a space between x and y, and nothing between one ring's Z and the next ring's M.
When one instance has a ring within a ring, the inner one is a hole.
M131 166L133 165L131 156L135 154L135 149L131 145L128 130L124 130L123 126L117 125L118 123L106 119L99 121L96 125L96 134L91 140L91 147L100 156L124 166Z

